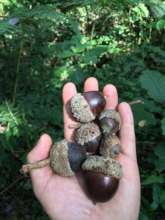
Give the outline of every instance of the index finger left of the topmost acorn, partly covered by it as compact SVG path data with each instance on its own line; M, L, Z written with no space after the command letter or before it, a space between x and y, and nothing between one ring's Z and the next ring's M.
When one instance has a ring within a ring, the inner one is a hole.
M76 87L73 83L67 83L63 87L63 114L64 114L64 135L67 140L72 139L73 130L69 128L69 125L76 124L71 119L68 113L68 102L77 93Z

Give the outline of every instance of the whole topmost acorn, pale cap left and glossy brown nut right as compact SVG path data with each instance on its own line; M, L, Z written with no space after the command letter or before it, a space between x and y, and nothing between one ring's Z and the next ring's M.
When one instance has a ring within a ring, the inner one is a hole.
M104 109L104 96L99 91L78 93L70 100L73 117L82 123L93 121Z

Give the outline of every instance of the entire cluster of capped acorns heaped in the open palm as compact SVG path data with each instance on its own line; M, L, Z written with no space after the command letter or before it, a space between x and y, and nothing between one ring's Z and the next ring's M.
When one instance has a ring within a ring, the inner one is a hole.
M77 122L73 142L56 142L50 152L50 166L61 176L82 172L88 196L94 202L106 202L116 192L122 176L115 158L121 152L116 133L121 120L117 111L105 109L106 100L98 91L76 94L68 103Z

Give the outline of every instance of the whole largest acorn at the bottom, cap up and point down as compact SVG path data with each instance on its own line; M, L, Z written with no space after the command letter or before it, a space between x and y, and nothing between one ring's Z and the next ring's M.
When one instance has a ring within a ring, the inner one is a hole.
M82 170L86 190L94 202L106 202L114 196L122 177L121 165L116 160L89 156Z

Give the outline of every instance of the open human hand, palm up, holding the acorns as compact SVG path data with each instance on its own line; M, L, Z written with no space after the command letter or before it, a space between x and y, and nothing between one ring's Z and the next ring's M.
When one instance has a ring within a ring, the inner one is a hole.
M98 90L95 78L88 78L84 91ZM75 122L68 116L66 103L76 94L73 83L63 88L64 132L65 138L71 140L73 130L68 125ZM31 171L33 190L52 220L137 220L140 206L140 178L136 158L136 144L133 115L127 103L118 105L117 90L113 85L103 89L106 96L106 108L115 109L121 116L122 126L120 140L122 153L118 160L122 165L123 176L114 197L106 203L94 204L83 192L75 176L61 177L53 173L49 166ZM52 140L47 135L41 136L37 145L28 154L30 163L49 157Z

